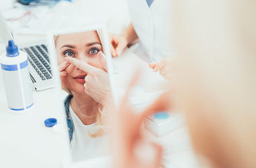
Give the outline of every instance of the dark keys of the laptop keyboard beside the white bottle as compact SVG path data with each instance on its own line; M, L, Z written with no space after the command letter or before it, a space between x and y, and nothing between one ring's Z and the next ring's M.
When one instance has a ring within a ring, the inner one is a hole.
M50 59L46 45L30 46L21 50L28 54L28 61L42 80L49 80L52 78Z

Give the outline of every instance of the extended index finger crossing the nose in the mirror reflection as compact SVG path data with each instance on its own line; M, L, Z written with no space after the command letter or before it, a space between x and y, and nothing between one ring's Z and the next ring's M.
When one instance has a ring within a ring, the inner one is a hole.
M87 73L94 73L96 71L102 71L99 68L95 68L94 66L91 66L90 64L87 64L84 61L79 61L78 59L75 59L73 57L65 57L66 61L69 61L70 64L74 64L74 66L80 68L82 71Z

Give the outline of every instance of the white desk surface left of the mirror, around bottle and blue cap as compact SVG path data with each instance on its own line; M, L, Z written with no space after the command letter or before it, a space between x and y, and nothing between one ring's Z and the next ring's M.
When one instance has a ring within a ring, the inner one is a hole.
M0 167L62 167L65 153L64 134L44 126L44 120L60 117L58 95L54 89L34 92L34 107L30 112L14 115L8 111L5 90L0 82Z

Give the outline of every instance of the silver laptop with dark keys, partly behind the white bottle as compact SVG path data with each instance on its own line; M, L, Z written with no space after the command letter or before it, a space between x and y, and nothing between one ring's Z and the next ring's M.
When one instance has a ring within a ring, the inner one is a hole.
M6 25L6 20L1 13L0 29L0 39L2 39L2 43L7 45L9 40L14 40L8 25ZM25 52L28 56L30 79L34 90L41 91L47 88L53 88L53 76L46 43L44 41L38 41L21 44L18 45L18 49Z

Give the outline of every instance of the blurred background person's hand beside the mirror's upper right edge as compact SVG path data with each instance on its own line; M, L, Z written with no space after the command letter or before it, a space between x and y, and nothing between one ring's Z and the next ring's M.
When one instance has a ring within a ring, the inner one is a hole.
M110 49L112 57L118 57L126 49L128 41L122 34L110 33Z

